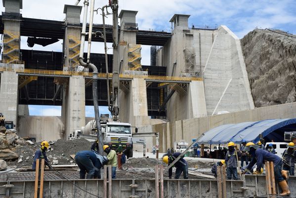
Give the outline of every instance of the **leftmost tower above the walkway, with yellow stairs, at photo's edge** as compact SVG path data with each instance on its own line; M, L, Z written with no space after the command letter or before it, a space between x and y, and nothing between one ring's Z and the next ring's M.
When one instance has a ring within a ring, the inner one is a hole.
M2 59L7 63L19 60L20 21L22 0L3 0L5 12L2 12L4 23Z

